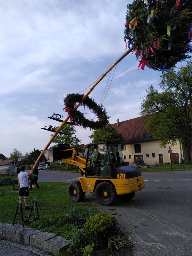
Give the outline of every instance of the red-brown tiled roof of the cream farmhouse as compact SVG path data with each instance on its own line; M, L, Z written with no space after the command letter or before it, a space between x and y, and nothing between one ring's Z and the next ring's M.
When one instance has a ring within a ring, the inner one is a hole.
M142 120L142 116L119 122L118 127L116 123L112 125L118 132L123 133L125 143L154 140L154 138L144 128L145 121Z

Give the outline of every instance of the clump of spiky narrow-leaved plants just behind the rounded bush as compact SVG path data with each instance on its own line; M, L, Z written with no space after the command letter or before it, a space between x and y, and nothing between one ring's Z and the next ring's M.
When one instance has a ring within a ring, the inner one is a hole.
M76 223L76 225L83 225L87 219L91 218L98 213L98 210L95 209L93 205L85 205L82 207L82 204L70 206L68 213L64 213L67 217L67 221L71 224Z

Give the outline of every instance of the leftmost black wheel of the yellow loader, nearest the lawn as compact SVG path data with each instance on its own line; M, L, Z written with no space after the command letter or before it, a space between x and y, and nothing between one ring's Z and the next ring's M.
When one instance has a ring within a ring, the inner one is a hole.
M80 181L73 181L68 185L68 197L72 202L83 201L85 192L81 187Z

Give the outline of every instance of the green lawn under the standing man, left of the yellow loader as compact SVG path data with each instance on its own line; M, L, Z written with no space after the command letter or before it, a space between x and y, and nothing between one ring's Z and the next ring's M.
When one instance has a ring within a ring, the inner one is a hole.
M67 194L68 183L61 182L38 182L40 189L32 188L29 196L37 196L37 206L40 218L45 215L63 214L68 211L69 205L78 204L69 200ZM17 210L19 193L12 193L13 185L1 186L6 196L0 196L0 222L13 223ZM15 185L15 189L18 185ZM2 195L0 191L0 195ZM32 204L33 198L28 199L28 204ZM22 200L22 205L24 202ZM82 207L92 205L85 197ZM94 206L96 207L96 206ZM24 213L28 211L24 210ZM27 215L27 214L26 214Z

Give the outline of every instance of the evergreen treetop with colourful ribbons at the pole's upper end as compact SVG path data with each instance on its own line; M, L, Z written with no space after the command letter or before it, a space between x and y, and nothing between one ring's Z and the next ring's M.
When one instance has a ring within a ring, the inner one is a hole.
M142 69L164 71L191 58L186 53L192 52L192 0L135 0L127 5L126 21L124 40L133 46Z

